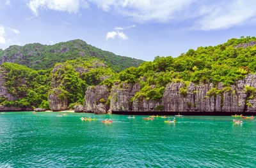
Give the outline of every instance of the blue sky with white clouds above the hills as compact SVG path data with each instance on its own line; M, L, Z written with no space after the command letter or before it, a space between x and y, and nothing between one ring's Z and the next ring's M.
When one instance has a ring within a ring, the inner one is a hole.
M256 0L0 0L0 48L72 39L142 60L255 36Z

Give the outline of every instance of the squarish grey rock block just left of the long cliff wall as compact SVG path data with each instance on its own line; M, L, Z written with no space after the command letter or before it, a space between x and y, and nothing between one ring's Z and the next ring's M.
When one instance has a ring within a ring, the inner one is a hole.
M109 97L106 85L88 87L85 96L84 109L86 112L95 114L106 114L108 112L108 106L105 105Z

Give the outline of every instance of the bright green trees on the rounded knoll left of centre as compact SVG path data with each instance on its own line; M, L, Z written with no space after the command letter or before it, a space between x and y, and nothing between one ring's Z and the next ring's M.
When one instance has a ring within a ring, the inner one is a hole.
M68 104L83 104L84 94L88 85L99 85L100 78L115 74L112 69L101 62L81 59L68 60L65 64L56 64L52 76L52 86L61 90L63 99Z

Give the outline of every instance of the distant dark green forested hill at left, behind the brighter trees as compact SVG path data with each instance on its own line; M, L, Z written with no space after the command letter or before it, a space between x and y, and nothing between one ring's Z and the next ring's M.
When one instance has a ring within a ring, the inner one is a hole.
M63 63L66 60L74 60L79 57L82 60L97 59L103 61L116 72L131 66L138 67L143 62L143 60L100 50L81 39L57 43L56 45L41 45L40 43L25 46L13 45L6 50L0 50L0 64L12 62L35 70L49 69L54 67L57 62Z

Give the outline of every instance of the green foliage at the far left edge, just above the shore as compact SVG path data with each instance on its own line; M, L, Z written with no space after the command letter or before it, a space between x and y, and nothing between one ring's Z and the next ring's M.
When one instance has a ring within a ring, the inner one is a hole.
M38 108L47 101L47 92L51 89L51 69L35 71L6 62L1 65L1 70L6 81L4 86L16 97L15 101L2 101L1 104L19 108Z

